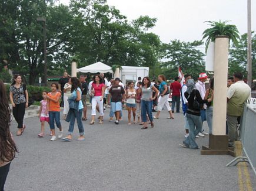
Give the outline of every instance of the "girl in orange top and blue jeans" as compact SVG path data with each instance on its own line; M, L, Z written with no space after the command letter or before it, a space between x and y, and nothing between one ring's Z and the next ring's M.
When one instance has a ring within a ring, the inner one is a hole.
M52 138L50 141L56 141L56 135L55 135L55 126L54 121L56 123L56 126L59 128L59 135L58 138L62 138L62 127L61 127L61 121L60 121L60 111L61 108L59 107L59 98L61 97L61 93L58 91L58 84L52 83L51 84L51 92L47 94L47 104L49 108L49 124L52 132Z

